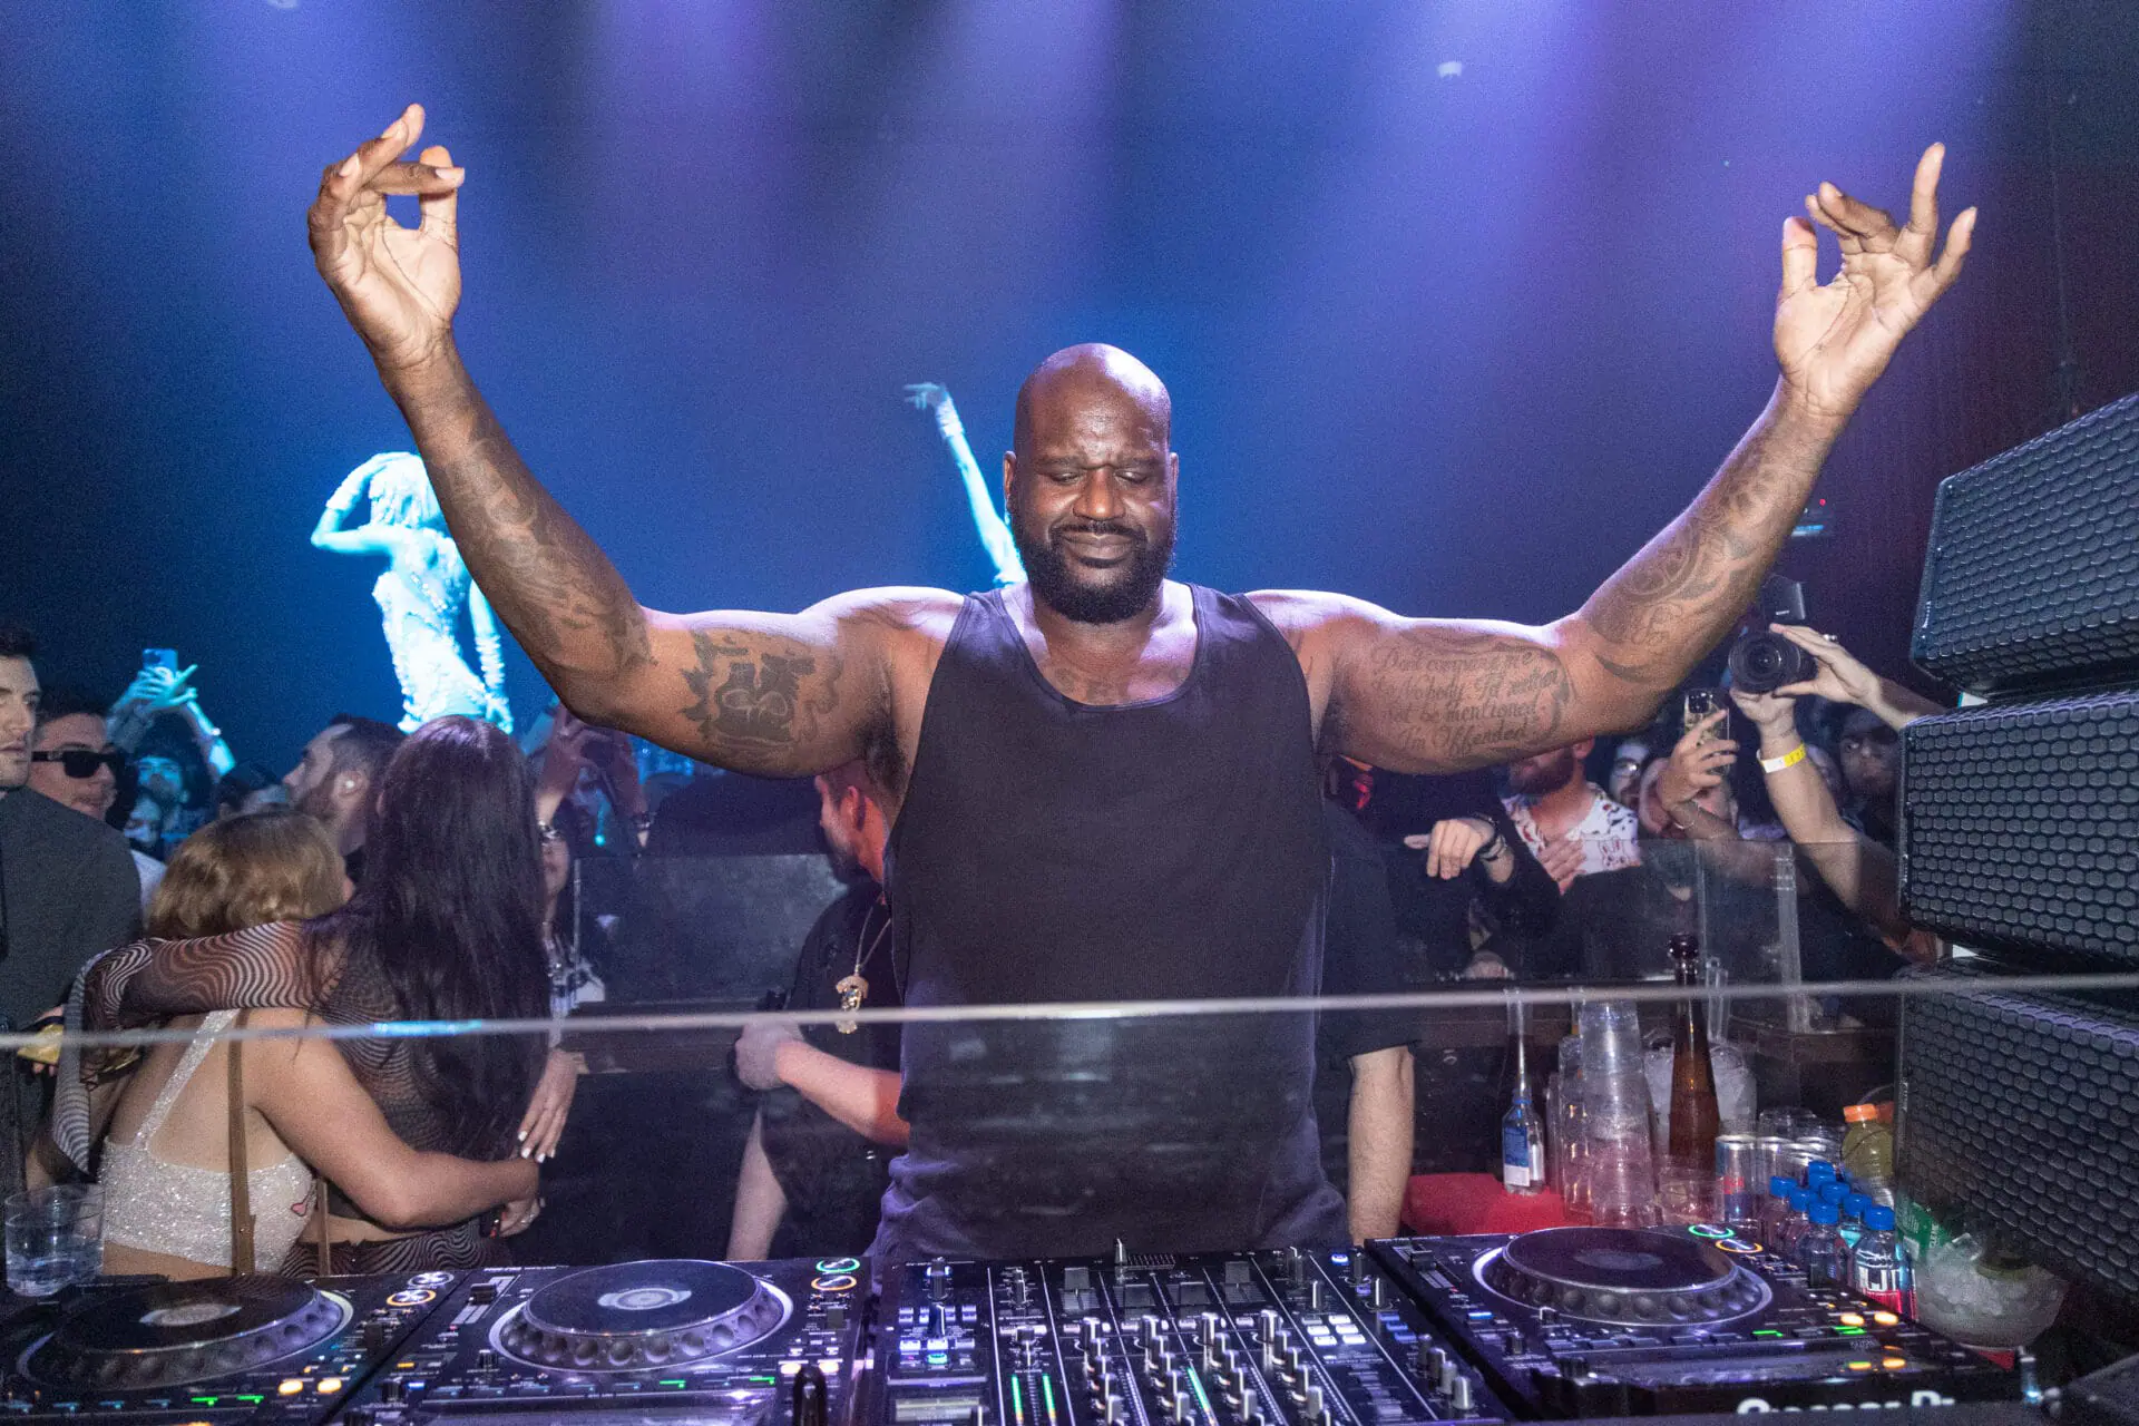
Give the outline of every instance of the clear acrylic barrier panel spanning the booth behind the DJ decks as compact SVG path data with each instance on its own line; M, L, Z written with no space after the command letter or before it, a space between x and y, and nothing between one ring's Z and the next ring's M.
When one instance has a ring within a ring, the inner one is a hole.
M2051 1219L2068 1221L2075 1206L2030 1184L2071 1187L2092 1202L2094 1223L2135 1214L2118 1154L2139 1142L2128 1092L2139 975L1910 971L1818 990L1874 1013L1790 1030L1782 1009L1797 988L1467 981L1292 1001L853 1013L616 1005L560 1022L222 1030L205 1037L216 1050L193 1069L150 1157L227 1163L229 1080L216 1056L242 1041L242 1092L261 1114L252 1163L282 1163L297 1146L325 1157L338 1165L336 1231L368 1238L471 1214L466 1178L438 1174L436 1161L413 1187L381 1182L379 1163L409 1161L376 1135L400 1127L417 1140L411 1148L513 1157L520 1099L556 1103L563 1086L569 1107L554 1142L537 1131L541 1163L498 1189L513 1199L475 1214L501 1210L515 1231L483 1238L477 1227L466 1240L522 1261L862 1255L873 1242L1080 1255L1117 1240L1187 1251L1354 1229L1758 1221L1773 1208L1758 1202L1769 1172L1803 1176L1825 1159L1850 1163L1855 1187L1904 1212L1908 1193L1921 1193L1919 1231L1936 1219L1946 1238L1976 1234L2090 1291L2130 1291L2128 1264L2100 1234L2056 1231ZM1966 1054L1976 1018L2002 1037L1989 1063ZM1715 1122L1688 1180L1671 1120L1694 1101L1673 1075L1696 1028ZM60 1069L79 1080L90 1067L98 1080L88 1163L107 1184L113 1163L130 1165L120 1191L141 1182L128 1144L171 1065L195 1058L184 1050L201 1039L186 1026L73 1037ZM49 1050L19 1035L0 1045ZM383 1120L359 1135L340 1112L317 1118L332 1099L278 1092L306 1048L332 1048ZM2058 1054L2062 1067L2049 1065ZM501 1063L503 1073L486 1073ZM1410 1073L1395 1073L1397 1063ZM1985 1099L1953 1075L2002 1078ZM441 1082L462 1090L458 1112L490 1116L488 1140L466 1137L473 1120L426 1107ZM477 1084L511 1086L501 1092L513 1103L486 1101ZM51 1146L36 1142L49 1133L47 1086L17 1073L13 1129L51 1174ZM1897 1114L1852 1112L1859 1103ZM1410 1144L1390 1122L1410 1125ZM1510 1122L1536 1135L1519 1184L1508 1176ZM1884 1131L1869 1157L1848 1137L1865 1122ZM308 1172L304 1152L289 1167ZM58 1176L81 1178L64 1165ZM539 1210L524 1208L528 1195ZM282 1219L306 1216L310 1202L282 1193L257 1212L289 1229ZM107 1270L152 1270L120 1238L107 1238ZM284 1231L274 1238L291 1251Z

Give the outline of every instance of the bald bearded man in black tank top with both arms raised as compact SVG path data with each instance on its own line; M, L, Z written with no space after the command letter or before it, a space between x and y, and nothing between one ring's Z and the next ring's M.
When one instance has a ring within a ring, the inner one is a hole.
M421 128L409 107L329 167L310 237L475 579L590 723L761 776L868 759L894 819L909 1005L1311 992L1328 874L1315 750L1452 772L1641 725L1745 609L1974 227L1964 212L1936 252L1936 145L1906 227L1820 184L1782 233L1767 408L1686 513L1540 629L1168 579L1170 402L1112 346L1055 353L1018 391L1003 494L1027 584L678 616L631 596L462 366L466 171L436 145L402 160ZM389 192L419 195L417 229L387 218ZM1842 246L1827 284L1814 224ZM1089 1022L909 1026L913 1137L877 1251L1341 1240L1307 1107L1311 1026L1294 1020L1123 1022L1099 1039Z

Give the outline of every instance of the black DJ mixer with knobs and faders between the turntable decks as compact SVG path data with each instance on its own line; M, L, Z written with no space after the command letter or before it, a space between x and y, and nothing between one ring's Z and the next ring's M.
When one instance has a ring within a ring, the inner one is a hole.
M909 1266L883 1426L1407 1426L1499 1417L1352 1253ZM1425 1373L1416 1370L1425 1366Z

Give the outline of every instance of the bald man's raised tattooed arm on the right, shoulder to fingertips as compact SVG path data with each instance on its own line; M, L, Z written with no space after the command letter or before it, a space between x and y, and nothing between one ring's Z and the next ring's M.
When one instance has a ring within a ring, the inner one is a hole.
M1972 207L1932 261L1942 162L1944 148L1932 145L1917 165L1906 227L1833 184L1805 199L1812 222L1842 246L1842 272L1827 284L1816 280L1812 222L1784 224L1775 396L1692 507L1581 611L1521 629L1281 596L1290 603L1273 618L1292 614L1288 637L1322 699L1324 746L1401 772L1442 772L1647 718L1745 611L1850 413L1959 276Z

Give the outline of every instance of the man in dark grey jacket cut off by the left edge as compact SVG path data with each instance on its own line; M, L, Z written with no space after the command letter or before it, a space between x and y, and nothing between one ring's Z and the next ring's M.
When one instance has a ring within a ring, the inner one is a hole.
M81 964L141 934L126 838L30 787L43 688L34 641L0 629L0 1018L24 1026L60 1003ZM101 733L94 748L103 750ZM66 776L66 763L58 763ZM98 780L103 768L92 768ZM43 780L43 776L39 776Z

